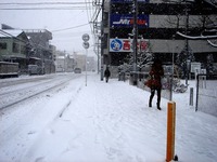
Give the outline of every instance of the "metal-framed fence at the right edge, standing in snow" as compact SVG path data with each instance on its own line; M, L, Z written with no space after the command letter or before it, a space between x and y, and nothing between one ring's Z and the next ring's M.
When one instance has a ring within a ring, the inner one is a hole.
M217 75L197 75L195 110L217 117Z

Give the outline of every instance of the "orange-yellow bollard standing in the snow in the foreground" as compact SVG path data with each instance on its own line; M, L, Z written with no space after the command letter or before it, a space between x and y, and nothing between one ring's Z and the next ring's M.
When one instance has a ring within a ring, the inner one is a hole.
M174 160L175 153L176 103L169 102L167 107L167 146L166 162Z

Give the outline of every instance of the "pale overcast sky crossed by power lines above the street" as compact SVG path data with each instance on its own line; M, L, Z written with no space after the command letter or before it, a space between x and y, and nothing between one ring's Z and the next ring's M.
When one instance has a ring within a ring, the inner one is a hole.
M53 36L51 44L55 45L58 50L84 53L81 36L89 33L90 45L93 42L89 25L91 11L88 10L87 12L86 10L87 8L92 8L91 1L0 0L0 24L7 24L18 29L48 29ZM48 2L49 4L47 4ZM71 2L71 4L67 2ZM71 8L71 10L53 10L56 8ZM92 48L89 49L88 54L94 55Z

